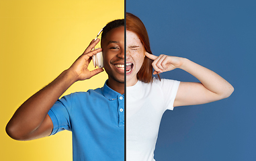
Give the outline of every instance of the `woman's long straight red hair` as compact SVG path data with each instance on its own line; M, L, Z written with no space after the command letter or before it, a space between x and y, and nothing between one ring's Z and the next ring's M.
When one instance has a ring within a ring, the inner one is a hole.
M140 38L140 41L142 42L142 45L144 46L146 52L152 54L151 46L148 39L148 32L146 32L146 28L143 22L135 15L132 15L132 13L126 13L126 30L134 32L138 36L138 38ZM143 64L137 73L138 80L144 83L151 83L153 81L152 62L153 60L145 56Z

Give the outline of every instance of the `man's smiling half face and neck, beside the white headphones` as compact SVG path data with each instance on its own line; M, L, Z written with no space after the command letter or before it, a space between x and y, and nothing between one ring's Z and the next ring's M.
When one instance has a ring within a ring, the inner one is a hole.
M114 28L101 40L103 66L108 73L108 86L124 85L124 26Z

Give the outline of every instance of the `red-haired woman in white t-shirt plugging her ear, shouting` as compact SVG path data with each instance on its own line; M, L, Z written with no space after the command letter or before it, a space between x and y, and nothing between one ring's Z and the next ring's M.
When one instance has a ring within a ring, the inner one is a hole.
M153 161L165 110L229 97L234 91L224 78L187 58L154 56L142 21L126 13L126 159ZM153 68L155 71L153 72ZM201 83L153 78L181 68ZM152 74L153 73L153 74Z

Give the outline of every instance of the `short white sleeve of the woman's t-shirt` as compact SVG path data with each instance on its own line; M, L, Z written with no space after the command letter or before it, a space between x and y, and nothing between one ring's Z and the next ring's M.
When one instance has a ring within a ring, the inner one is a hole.
M177 91L179 89L179 81L164 79L157 80L157 84L161 87L161 91L163 92L163 97L165 100L165 110L170 109L173 110L173 103L175 97L177 95Z

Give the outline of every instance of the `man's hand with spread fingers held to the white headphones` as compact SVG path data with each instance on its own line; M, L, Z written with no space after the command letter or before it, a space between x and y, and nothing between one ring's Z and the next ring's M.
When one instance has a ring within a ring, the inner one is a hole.
M99 74L99 72L103 72L103 68L97 68L91 71L88 69L89 63L91 62L91 56L101 52L102 50L101 48L93 50L97 43L99 43L99 39L93 39L85 49L85 52L83 52L83 54L79 56L79 58L77 58L77 60L75 60L72 66L68 69L69 72L73 73L75 81L85 80L91 78L91 76L94 76L95 74Z

